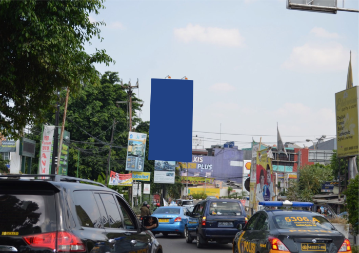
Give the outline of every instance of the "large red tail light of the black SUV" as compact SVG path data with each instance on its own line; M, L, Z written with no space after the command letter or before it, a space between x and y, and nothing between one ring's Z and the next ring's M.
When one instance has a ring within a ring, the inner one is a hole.
M86 251L85 245L75 235L67 231L55 231L44 234L23 236L25 242L34 248L50 248L58 252L83 252Z

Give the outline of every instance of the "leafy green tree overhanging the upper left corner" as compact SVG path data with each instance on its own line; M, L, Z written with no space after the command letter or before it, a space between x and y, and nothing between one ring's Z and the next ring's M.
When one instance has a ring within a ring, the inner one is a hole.
M109 65L105 50L87 54L86 42L102 40L89 13L104 0L0 1L0 126L18 137L29 123L42 122L56 90L73 93L98 82L95 63ZM12 106L11 102L14 103Z

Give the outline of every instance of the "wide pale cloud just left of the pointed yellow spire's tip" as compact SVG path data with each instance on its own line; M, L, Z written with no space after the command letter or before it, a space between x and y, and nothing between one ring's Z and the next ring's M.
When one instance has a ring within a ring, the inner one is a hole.
M348 54L349 49L340 43L306 43L294 47L282 67L298 72L342 71L348 68Z

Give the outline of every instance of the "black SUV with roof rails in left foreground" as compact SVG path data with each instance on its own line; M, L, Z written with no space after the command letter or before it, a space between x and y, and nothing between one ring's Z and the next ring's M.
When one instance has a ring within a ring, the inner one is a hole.
M0 251L163 252L146 228L149 221L158 226L157 218L141 224L126 200L103 184L29 177L38 175L0 176Z

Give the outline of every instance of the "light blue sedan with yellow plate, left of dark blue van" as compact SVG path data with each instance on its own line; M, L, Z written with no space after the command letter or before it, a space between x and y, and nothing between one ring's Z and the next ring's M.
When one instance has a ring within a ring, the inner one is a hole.
M152 229L153 235L162 233L181 235L185 238L185 226L190 216L190 212L183 206L161 206L155 210L152 216L157 217L158 227Z

